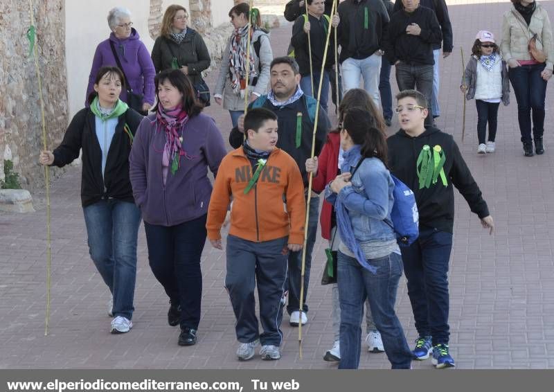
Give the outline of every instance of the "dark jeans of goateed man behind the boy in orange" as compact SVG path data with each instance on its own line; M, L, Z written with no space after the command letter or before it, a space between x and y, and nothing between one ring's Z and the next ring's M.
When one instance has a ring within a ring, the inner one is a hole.
M304 268L304 296L303 311L307 312L307 287L310 283L310 268L312 267L312 251L316 242L317 220L319 217L319 197L310 199L310 220L307 222L306 260ZM289 252L289 278L287 290L289 291L289 303L287 312L291 314L300 310L300 283L302 277L302 250Z

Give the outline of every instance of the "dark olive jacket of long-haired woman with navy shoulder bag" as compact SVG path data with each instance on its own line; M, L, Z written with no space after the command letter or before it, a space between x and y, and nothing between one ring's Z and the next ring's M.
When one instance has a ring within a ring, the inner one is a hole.
M171 68L174 56L177 57L179 66L188 66L188 76L193 84L200 82L200 73L208 69L211 62L204 39L192 28L186 29L185 39L181 44L177 44L172 37L157 37L152 48L152 62L156 73Z

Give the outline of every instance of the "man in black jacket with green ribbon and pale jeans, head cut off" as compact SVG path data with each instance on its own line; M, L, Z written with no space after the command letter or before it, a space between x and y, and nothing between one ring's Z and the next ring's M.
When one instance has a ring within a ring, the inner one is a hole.
M359 87L363 76L364 89L380 106L382 38L388 24L385 6L382 0L344 0L339 4L339 17L343 91Z

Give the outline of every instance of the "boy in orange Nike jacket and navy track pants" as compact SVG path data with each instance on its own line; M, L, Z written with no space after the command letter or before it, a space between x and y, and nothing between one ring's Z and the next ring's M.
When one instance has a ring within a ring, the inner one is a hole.
M213 247L222 249L220 230L231 210L225 287L237 319L238 359L251 359L258 343L262 359L279 359L288 251L299 251L304 242L304 185L294 159L276 148L273 112L251 109L244 117L244 130L244 144L229 152L217 171L206 229Z

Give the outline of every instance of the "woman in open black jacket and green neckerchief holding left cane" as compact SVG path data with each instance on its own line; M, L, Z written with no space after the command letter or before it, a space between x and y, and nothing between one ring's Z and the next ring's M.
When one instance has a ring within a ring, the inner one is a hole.
M129 152L142 116L119 99L124 78L115 66L100 68L89 96L90 107L71 120L53 152L42 151L42 165L59 168L82 149L81 200L91 258L109 287L111 333L125 333L133 323L136 238L141 213L129 181Z

